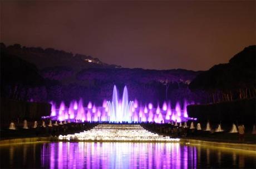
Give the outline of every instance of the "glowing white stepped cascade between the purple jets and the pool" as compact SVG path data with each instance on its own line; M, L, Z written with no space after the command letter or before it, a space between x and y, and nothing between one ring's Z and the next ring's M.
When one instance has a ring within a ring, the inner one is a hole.
M99 124L93 129L77 134L58 137L66 141L135 141L135 142L178 142L172 139L145 130L140 125L129 124Z

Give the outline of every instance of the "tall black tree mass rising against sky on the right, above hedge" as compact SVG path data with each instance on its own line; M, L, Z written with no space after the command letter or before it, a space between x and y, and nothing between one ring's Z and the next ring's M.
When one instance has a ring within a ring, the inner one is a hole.
M191 82L192 90L205 90L208 103L255 98L255 45L236 54L227 64L213 66Z

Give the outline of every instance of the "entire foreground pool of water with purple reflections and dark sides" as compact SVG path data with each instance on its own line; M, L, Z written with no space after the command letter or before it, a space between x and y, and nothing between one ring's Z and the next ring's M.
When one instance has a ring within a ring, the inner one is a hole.
M0 146L1 168L255 168L256 154L179 143L51 142Z

